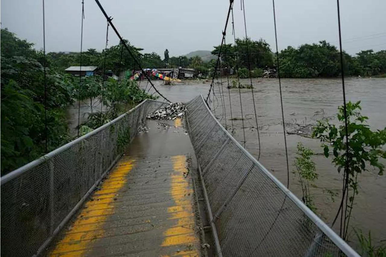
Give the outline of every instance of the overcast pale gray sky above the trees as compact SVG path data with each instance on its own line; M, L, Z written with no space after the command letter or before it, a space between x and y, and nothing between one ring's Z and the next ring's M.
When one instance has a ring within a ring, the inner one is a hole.
M220 44L229 0L100 0L120 34L144 52L163 57ZM46 0L46 50L79 51L81 0ZM338 42L336 0L276 0L279 50L289 45L327 40ZM42 1L0 0L1 27L42 48ZM262 37L275 48L271 0L245 0L248 36ZM343 48L350 54L362 49L386 49L386 0L340 0ZM235 0L235 31L244 37L240 1ZM231 30L227 42L232 42ZM106 20L94 0L85 0L83 48L105 45ZM110 30L109 45L118 37Z

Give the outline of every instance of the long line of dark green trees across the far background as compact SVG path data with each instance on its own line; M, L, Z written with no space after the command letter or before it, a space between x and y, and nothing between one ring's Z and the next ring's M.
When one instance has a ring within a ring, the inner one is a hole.
M164 59L157 53L142 54L143 49L134 47L126 41L130 50L140 60L143 68L195 68L198 73L207 76L213 74L216 60L204 62L201 57L193 56L172 56L169 57L168 49L164 52ZM103 67L104 55L106 54L106 69L114 73L120 68L138 69L126 49L120 55L122 44L110 46L107 50L98 52L95 49L88 49L82 54L82 63ZM218 56L220 46L215 46L211 52ZM80 64L78 52L49 53L47 62L58 69L65 69L68 66ZM237 59L236 59L237 57ZM271 52L269 44L264 39L254 41L250 38L236 39L234 44L224 44L221 50L221 68L234 69L239 67L240 77L244 78L245 69L251 68L251 75L254 78L261 77L263 70L275 68L276 56ZM288 46L279 52L280 74L284 78L328 78L341 76L340 53L337 47L326 41L317 44L303 44L294 48ZM249 65L248 65L249 63ZM211 72L212 70L212 72ZM355 56L344 52L344 72L346 76L379 76L386 73L386 50L374 52L372 50L361 51ZM249 77L249 72L246 77Z

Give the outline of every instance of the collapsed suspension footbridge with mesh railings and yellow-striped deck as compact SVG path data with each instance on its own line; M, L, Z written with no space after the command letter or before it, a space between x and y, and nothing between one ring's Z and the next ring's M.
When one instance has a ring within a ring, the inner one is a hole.
M146 117L168 99L145 100L1 177L1 254L359 256L218 121L215 74L166 127Z

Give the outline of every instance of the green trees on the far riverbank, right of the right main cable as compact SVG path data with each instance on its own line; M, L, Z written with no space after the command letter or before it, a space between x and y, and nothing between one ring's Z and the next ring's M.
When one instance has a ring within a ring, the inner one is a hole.
M237 39L236 43L237 47L234 44L223 45L222 67L234 68L238 65L240 77L245 77L241 69L248 68L248 59L252 71L256 68L277 68L276 54L271 52L269 44L263 39ZM212 54L218 55L220 46L214 48ZM303 44L296 48L288 46L279 52L279 64L283 78L330 78L342 75L340 52L337 47L326 41ZM344 73L345 76L382 76L386 73L386 51L366 50L354 56L344 52ZM252 77L259 75L262 73L252 73Z

